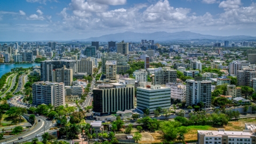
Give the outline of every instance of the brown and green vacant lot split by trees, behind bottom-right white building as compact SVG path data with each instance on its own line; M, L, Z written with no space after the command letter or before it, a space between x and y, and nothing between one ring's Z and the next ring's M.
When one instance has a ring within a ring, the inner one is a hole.
M223 127L213 127L209 125L201 126L188 126L189 132L185 134L185 140L197 140L197 130L218 130L225 129L226 131L242 131L244 130L245 123L256 123L255 118L239 119L238 121L231 121L228 125ZM162 142L163 133L161 131L156 132L141 132L142 140L139 143L151 143L151 142Z

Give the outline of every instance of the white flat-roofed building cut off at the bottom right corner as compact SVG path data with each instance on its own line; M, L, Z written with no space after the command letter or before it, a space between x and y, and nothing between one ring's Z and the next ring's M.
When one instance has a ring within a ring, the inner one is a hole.
M197 131L198 144L255 144L255 135L252 130L243 131Z

